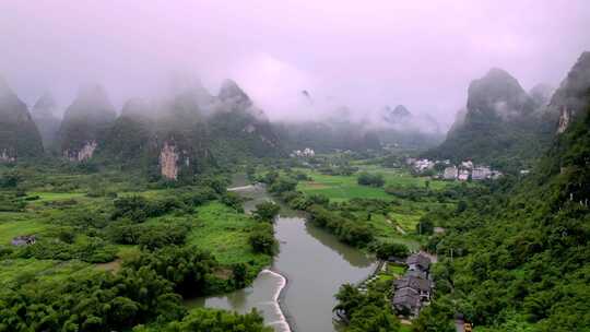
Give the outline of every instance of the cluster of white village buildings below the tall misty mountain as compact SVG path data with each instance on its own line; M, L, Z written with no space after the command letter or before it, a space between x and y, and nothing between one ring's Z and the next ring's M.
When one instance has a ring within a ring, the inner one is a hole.
M461 162L459 165L453 165L449 159L446 161L430 161L430 159L417 159L406 158L405 163L412 167L412 170L416 174L435 173L440 179L445 180L495 180L502 177L502 171L492 169L489 166L474 165L471 161ZM437 167L441 165L441 167ZM442 169L437 171L436 169Z

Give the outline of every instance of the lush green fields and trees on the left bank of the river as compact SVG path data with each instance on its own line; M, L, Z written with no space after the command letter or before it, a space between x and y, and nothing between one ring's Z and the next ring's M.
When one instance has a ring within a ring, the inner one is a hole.
M245 215L225 180L150 189L97 171L0 165L0 331L268 331L257 312L181 304L245 287L271 262L248 238L266 224L274 241L272 225ZM22 235L36 241L10 245Z

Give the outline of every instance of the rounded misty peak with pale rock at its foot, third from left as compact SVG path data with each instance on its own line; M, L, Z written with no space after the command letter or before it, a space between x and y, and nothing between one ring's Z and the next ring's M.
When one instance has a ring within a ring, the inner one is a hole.
M66 109L59 130L62 154L76 161L92 157L101 142L99 137L113 123L116 115L102 86L81 88L72 105Z

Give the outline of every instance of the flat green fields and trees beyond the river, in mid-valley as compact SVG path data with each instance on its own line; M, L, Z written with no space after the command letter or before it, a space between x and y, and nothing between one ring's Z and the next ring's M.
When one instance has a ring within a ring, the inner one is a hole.
M385 244L417 250L425 236L441 225L441 217L455 211L467 192L479 190L472 183L433 180L413 176L403 168L380 166L381 157L356 161L337 154L321 158L327 165L346 169L353 167L346 165L355 165L359 173L326 175L321 166L324 164L319 164L315 168L280 166L250 170L250 177L266 182L292 209L307 211L311 222L342 241L369 251ZM359 180L363 178L368 179L368 186L359 185L365 182ZM370 186L374 178L378 185L382 180L386 189Z

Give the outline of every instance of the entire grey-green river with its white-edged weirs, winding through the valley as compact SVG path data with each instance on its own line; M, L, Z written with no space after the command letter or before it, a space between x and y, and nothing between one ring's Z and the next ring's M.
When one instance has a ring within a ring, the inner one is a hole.
M237 181L236 181L237 182ZM236 187L244 183L237 182ZM263 187L237 190L250 200L245 210L271 198ZM306 223L297 212L282 209L275 222L275 237L280 252L275 256L272 271L262 271L251 286L226 294L193 299L190 306L222 308L248 312L257 308L264 322L275 331L331 332L334 294L343 283L355 283L373 272L375 261L359 250L341 244L333 235ZM284 275L288 283L281 294L283 310L274 297ZM288 327L283 319L287 317Z

